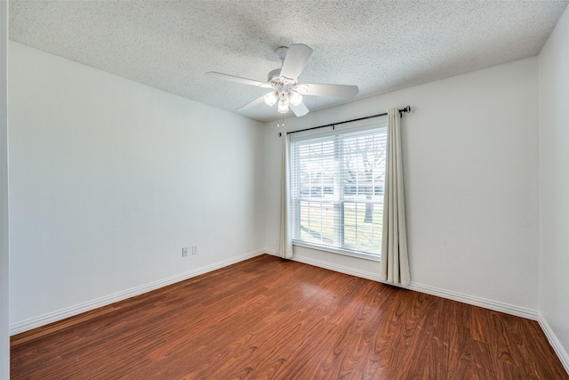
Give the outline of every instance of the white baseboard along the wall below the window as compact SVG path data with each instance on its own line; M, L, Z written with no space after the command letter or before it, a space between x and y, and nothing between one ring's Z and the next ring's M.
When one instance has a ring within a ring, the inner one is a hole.
M272 250L265 249L265 252L270 255L276 255L276 252ZM371 271L360 271L354 268L349 268L335 263L328 263L302 255L294 255L293 260L300 263L307 263L309 265L314 265L320 268L328 269L330 271L339 271L341 273L361 277L363 279L372 279L373 281L381 282L379 273ZM509 303L501 303L486 298L477 297L474 295L465 295L463 293L453 292L451 290L446 290L439 287L430 287L427 285L421 285L415 282L412 282L411 285L407 288L414 290L416 292L425 293L428 295L437 295L442 298L447 298L461 303L468 303L471 305L484 307L485 309L490 309L493 311L505 312L507 314L516 315L517 317L537 320L537 311L516 305L511 305Z

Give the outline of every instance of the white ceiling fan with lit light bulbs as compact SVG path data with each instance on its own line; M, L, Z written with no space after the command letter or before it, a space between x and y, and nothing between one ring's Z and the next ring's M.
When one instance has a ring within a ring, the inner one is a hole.
M250 109L263 101L268 107L277 104L278 112L285 114L289 109L293 109L297 117L309 113L309 109L302 102L303 95L309 96L334 96L339 98L352 98L359 93L357 85L324 85L315 83L299 83L299 76L302 69L312 55L312 49L306 44L292 44L289 47L279 47L275 54L282 61L281 69L274 69L268 73L267 83L259 82L244 77L235 77L228 74L221 74L215 71L205 73L209 77L219 77L220 79L243 85L255 85L262 88L270 88L271 92L266 93L254 101L250 101L243 107L237 109L242 111Z

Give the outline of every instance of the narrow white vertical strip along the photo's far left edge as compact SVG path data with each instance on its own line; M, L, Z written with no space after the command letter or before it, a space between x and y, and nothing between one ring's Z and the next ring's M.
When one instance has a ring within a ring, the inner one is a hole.
M0 2L0 379L10 378L8 257L8 2Z

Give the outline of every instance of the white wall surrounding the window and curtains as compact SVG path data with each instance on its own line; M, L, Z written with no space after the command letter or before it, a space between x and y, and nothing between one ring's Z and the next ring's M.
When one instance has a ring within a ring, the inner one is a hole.
M537 59L531 58L285 120L287 130L410 104L403 117L412 285L535 317ZM265 245L278 242L280 145L266 125ZM367 278L379 264L295 247L299 261ZM511 308L509 308L511 306Z

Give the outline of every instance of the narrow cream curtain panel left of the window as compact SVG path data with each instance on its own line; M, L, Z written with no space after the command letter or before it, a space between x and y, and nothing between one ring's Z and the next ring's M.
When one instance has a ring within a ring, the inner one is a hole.
M281 230L278 242L278 255L284 259L293 257L293 238L291 231L291 169L289 150L291 137L283 132L282 169L281 169Z

